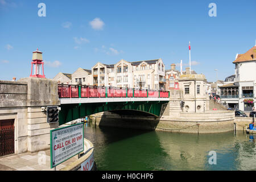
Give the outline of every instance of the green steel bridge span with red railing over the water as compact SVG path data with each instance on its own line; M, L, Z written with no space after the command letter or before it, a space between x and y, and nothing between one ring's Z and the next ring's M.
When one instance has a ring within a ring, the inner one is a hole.
M111 111L119 115L162 115L170 94L165 90L58 85L59 124Z

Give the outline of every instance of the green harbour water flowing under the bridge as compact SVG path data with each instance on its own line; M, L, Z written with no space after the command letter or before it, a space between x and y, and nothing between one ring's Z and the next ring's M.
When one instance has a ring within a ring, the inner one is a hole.
M181 134L85 124L99 170L256 170L256 135ZM217 164L209 164L209 151Z

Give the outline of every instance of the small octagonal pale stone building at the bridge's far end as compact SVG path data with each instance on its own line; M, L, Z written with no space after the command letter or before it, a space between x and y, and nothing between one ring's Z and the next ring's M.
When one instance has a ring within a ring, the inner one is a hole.
M203 74L189 74L186 68L185 74L180 75L179 86L183 91L185 102L183 111L200 113L209 110L209 96L205 92L207 79Z

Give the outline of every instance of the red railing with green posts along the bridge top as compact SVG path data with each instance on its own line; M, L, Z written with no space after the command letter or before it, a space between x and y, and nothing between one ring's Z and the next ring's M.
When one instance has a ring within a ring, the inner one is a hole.
M88 85L58 85L59 98L154 97L168 98L169 91Z

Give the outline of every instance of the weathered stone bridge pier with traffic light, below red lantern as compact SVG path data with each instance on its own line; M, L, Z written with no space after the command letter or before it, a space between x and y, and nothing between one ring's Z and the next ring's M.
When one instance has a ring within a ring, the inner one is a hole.
M49 131L59 122L47 123L41 107L59 105L57 81L34 77L0 81L0 123L13 123L15 154L49 148Z

